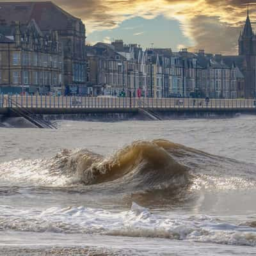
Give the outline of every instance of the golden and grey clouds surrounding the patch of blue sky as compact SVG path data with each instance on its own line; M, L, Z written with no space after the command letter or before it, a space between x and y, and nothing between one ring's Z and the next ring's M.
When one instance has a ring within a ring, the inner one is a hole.
M26 0L24 0L26 1ZM193 49L236 53L239 30L246 18L245 0L53 0L86 24L88 34L118 27L133 17L154 19L164 15L180 22ZM256 21L252 6L252 24ZM154 31L152 31L154 33ZM172 31L170 30L170 33ZM180 42L182 44L182 42Z

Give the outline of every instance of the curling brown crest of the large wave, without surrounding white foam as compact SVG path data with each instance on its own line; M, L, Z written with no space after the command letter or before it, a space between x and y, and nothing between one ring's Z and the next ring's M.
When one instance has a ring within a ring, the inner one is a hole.
M64 150L54 157L51 169L76 173L86 185L125 181L133 186L157 186L171 180L177 184L180 177L187 180L188 168L166 150L175 147L168 141L136 141L106 158L88 150Z

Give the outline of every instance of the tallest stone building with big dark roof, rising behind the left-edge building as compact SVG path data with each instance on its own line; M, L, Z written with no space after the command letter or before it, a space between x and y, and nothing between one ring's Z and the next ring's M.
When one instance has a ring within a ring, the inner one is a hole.
M0 19L6 25L35 20L44 34L58 32L63 54L63 91L86 93L85 27L81 19L51 2L1 2Z

